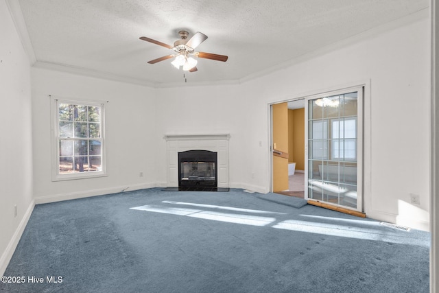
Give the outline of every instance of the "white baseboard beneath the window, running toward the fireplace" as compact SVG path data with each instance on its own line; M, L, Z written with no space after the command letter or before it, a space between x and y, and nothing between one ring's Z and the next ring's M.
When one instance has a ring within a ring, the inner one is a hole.
M105 194L117 194L119 192L134 191L156 187L156 183L142 183L137 185L125 185L117 187L108 187L102 189L93 189L86 191L69 192L67 194L54 194L50 196L36 196L35 204L46 204L49 202L60 202L62 200L75 200L78 198L88 198L90 196L103 196Z

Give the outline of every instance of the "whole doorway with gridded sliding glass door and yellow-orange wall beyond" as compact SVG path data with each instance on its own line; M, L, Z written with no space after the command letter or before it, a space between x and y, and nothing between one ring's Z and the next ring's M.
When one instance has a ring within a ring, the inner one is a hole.
M271 106L273 192L362 212L363 91L360 86ZM302 174L295 162L300 155L294 154L294 144L289 148L287 139L287 113L299 103L305 126ZM297 182L303 183L302 194Z

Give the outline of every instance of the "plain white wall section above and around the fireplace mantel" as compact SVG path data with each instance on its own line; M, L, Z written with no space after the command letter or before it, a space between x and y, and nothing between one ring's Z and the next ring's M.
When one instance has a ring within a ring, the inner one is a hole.
M242 124L248 115L235 84L157 89L158 185L166 184L165 134L230 134L230 187L241 188Z

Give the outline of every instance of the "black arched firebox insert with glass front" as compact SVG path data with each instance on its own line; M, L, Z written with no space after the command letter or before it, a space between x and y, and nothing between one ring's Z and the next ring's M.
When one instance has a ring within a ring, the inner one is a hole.
M217 189L217 152L187 150L178 152L179 190Z

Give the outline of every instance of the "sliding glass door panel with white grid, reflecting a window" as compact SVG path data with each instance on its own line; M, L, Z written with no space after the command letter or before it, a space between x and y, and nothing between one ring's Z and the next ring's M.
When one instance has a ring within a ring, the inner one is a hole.
M305 196L361 211L362 89L307 99Z

